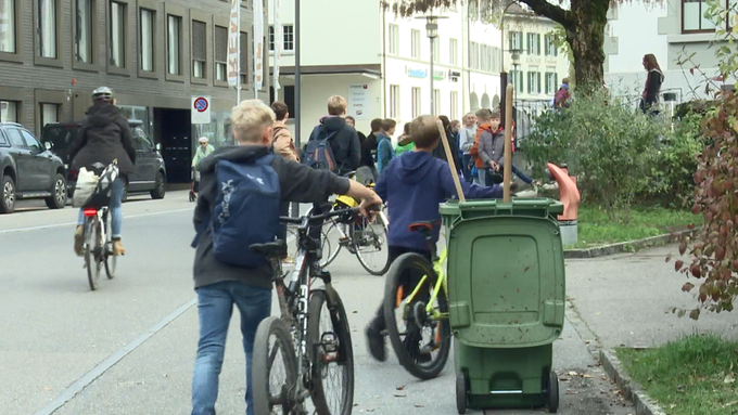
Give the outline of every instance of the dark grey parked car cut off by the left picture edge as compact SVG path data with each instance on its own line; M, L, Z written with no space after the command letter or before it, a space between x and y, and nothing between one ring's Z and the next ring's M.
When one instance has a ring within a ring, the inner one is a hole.
M62 159L15 122L0 122L0 213L12 213L16 199L42 198L51 209L66 206Z

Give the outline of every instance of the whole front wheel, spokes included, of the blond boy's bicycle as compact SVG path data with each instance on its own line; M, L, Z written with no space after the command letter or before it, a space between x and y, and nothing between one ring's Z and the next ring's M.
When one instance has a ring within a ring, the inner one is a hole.
M307 345L313 362L313 403L318 415L349 415L354 406L354 349L346 310L335 290L310 296ZM319 345L319 346L315 346Z

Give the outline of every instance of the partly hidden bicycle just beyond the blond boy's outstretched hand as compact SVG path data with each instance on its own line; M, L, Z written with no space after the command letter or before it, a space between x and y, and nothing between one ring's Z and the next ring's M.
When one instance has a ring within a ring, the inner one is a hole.
M356 171L351 171L344 177L355 178ZM373 181L365 181L367 187L373 189ZM356 208L359 200L342 195L336 196L332 205L334 211L342 209ZM313 208L308 209L307 215L313 212ZM326 260L320 263L320 267L328 267L339 256L342 247L359 260L361 267L372 275L384 275L390 268L390 257L386 249L386 234L390 220L383 210L373 219L364 217L355 218L353 221L345 221L334 218L327 223L323 223L322 232L322 251L326 252ZM336 248L332 249L332 245L336 243ZM379 254L377 261L373 261L372 254Z

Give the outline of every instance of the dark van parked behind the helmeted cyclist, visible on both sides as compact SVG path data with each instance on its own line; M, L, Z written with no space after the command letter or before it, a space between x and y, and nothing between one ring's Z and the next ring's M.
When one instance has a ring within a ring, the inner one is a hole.
M166 168L164 158L160 154L161 144L154 145L149 135L141 128L143 124L139 120L128 120L130 127L133 148L136 148L136 171L128 176L123 199L128 193L151 193L155 199L164 198L166 193ZM72 164L68 151L81 127L81 122L73 124L47 124L41 132L41 141L64 160L65 167ZM77 170L67 172L69 183L69 195L74 191L77 182Z

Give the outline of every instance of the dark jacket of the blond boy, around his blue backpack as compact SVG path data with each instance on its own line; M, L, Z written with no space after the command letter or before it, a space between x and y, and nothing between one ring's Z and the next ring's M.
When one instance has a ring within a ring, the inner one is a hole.
M269 147L259 145L230 146L217 150L200 163L198 170L201 172L200 196L194 209L195 232L201 229L208 210L216 197L217 181L215 179L215 166L220 159L234 163L246 163L269 153ZM345 194L348 192L348 179L340 178L328 170L315 170L298 163L287 160L283 157L275 157L271 167L279 176L282 208L289 202L321 203L332 194ZM275 212L280 215L280 212ZM249 247L244 247L249 249ZM221 281L241 281L247 285L271 288L271 270L268 265L251 270L232 267L219 262L213 256L213 235L209 226L200 235L198 248L194 255L193 278L195 288L219 283Z

